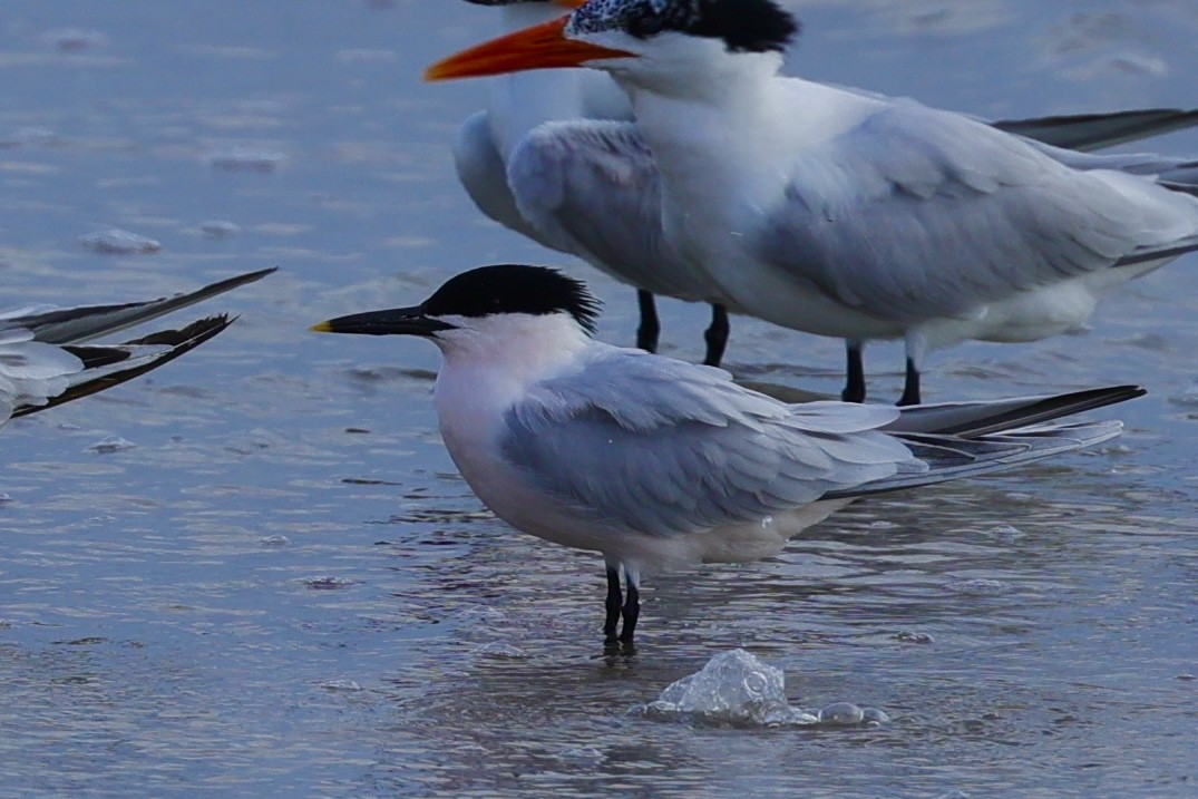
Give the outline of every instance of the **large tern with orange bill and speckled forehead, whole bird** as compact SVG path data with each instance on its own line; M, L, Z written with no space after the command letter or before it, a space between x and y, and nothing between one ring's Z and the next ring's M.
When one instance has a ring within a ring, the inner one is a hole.
M1109 287L1198 249L1193 163L781 77L797 31L770 0L591 0L426 77L609 72L660 171L664 246L706 299L843 338L847 400L865 397L866 340L906 341L915 404L928 349L1076 328Z

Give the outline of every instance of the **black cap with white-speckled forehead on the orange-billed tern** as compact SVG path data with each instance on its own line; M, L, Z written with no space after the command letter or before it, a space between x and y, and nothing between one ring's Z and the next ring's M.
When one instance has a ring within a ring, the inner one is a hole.
M622 30L635 38L670 31L718 38L732 53L781 53L799 34L795 17L773 0L591 0L567 32Z

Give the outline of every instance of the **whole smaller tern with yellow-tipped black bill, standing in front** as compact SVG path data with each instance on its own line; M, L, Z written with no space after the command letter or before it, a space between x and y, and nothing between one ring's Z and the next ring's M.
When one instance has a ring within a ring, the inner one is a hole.
M419 305L313 329L417 335L441 350L434 401L454 464L516 529L603 553L609 641L621 617L618 640L633 640L642 573L768 557L854 497L1106 441L1119 422L1054 419L1144 393L788 405L721 369L593 340L598 305L555 270L488 266Z

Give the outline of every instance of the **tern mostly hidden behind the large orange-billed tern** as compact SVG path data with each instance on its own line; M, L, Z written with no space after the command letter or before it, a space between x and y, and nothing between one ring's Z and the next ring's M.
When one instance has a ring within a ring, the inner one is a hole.
M501 6L519 30L561 16L581 0L467 0ZM485 110L466 120L454 165L483 213L544 247L581 258L637 290L636 345L655 352L654 295L700 301L704 292L685 258L658 232L660 176L631 121L628 97L605 74L521 72L491 83ZM992 122L1046 144L1094 150L1198 125L1198 111L1144 109ZM727 309L714 303L703 363L720 365Z

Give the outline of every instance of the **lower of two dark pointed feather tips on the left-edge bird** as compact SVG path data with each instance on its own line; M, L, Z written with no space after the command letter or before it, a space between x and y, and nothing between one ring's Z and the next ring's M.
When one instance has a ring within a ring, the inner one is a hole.
M159 331L123 344L63 346L62 350L83 364L79 371L67 377L66 391L53 397L30 393L18 397L12 416L44 411L144 375L204 344L229 327L234 319L236 317L228 315L210 316L179 329ZM25 381L26 386L29 383L30 381Z

